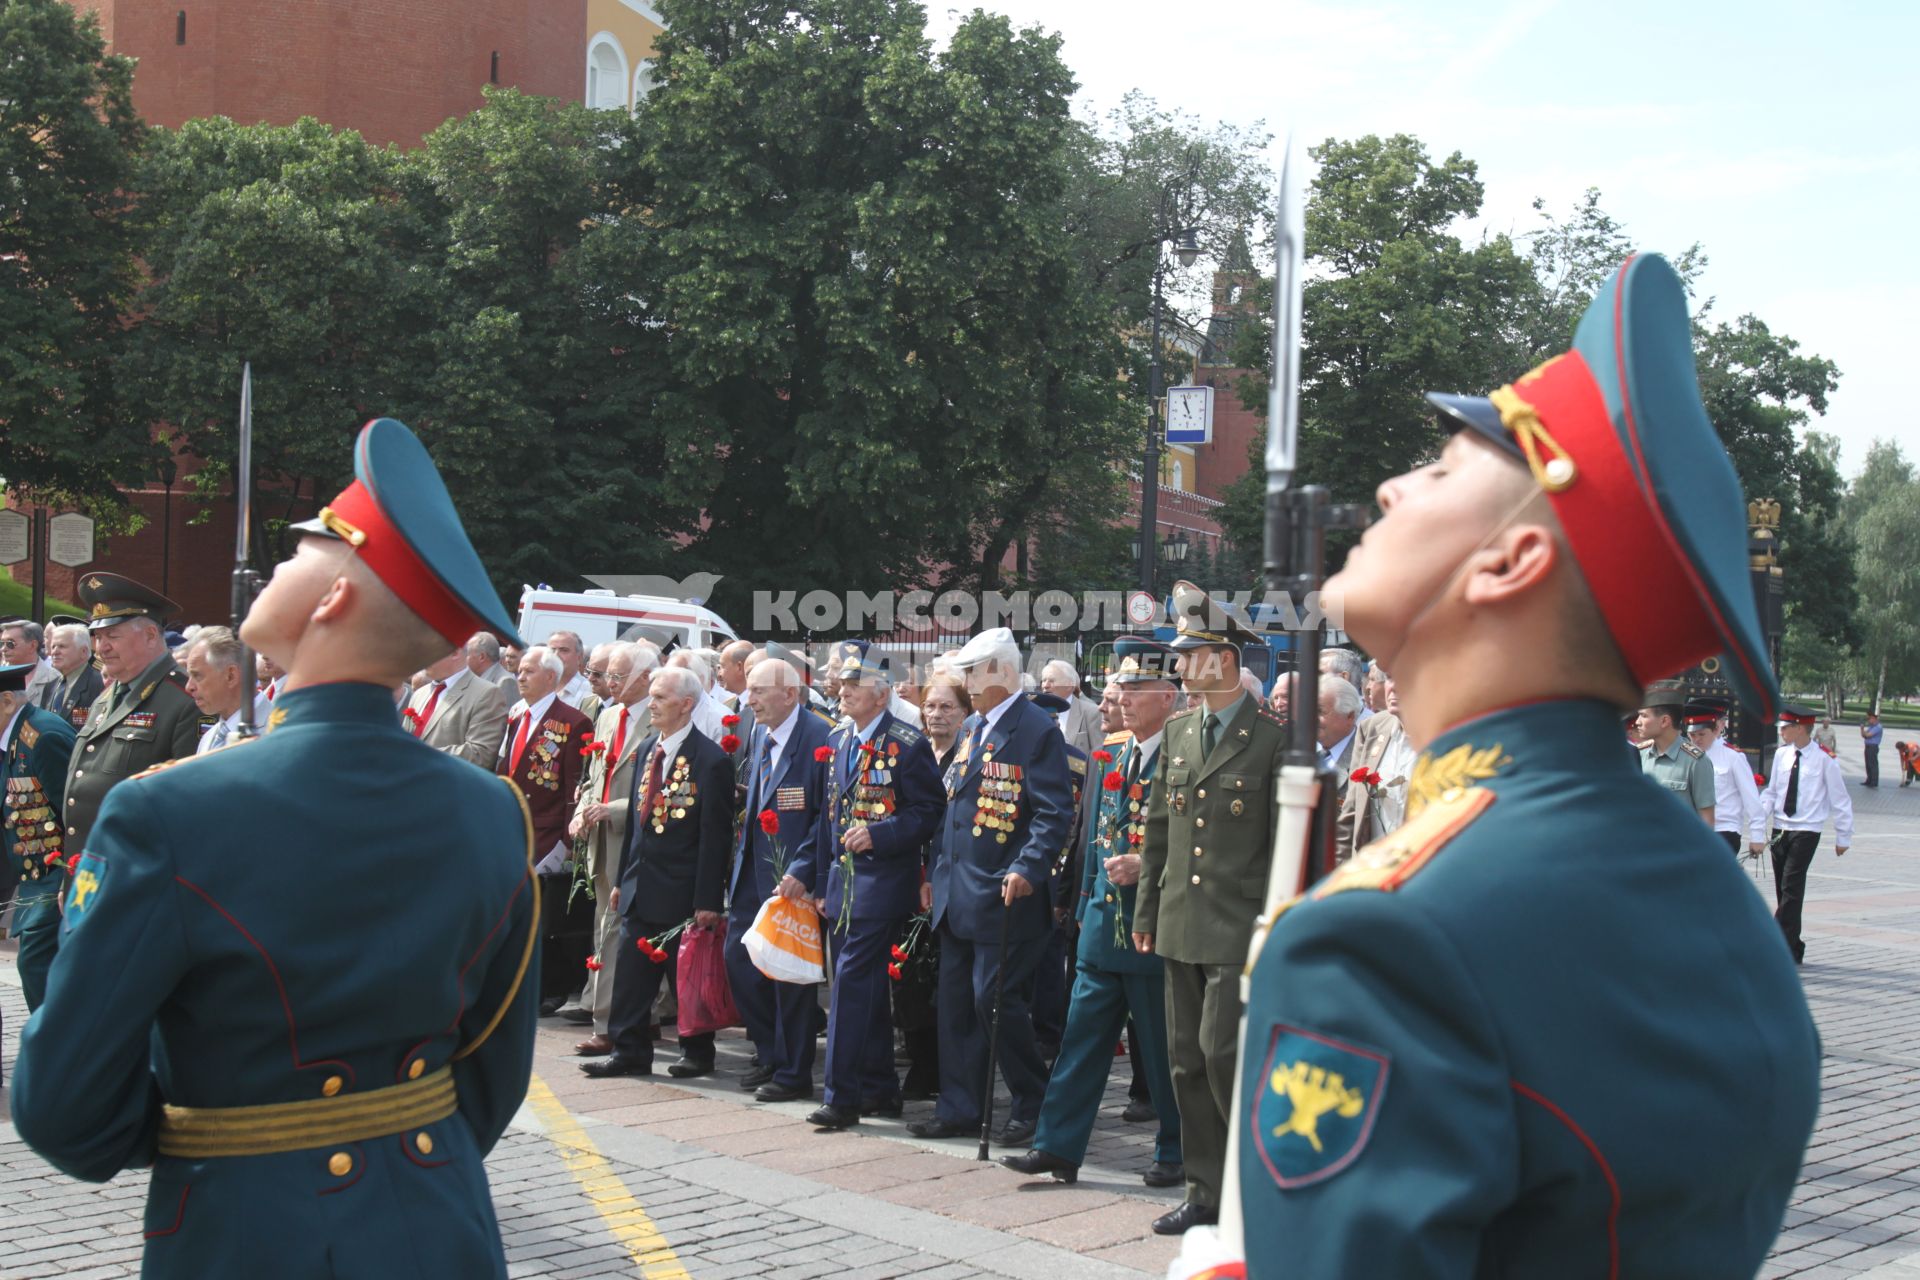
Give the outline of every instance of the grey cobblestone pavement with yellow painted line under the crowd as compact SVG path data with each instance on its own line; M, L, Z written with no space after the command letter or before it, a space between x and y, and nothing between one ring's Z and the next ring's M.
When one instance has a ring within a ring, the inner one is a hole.
M1859 787L1849 737L1841 729L1857 846L1836 860L1822 841L1801 971L1826 1052L1824 1105L1763 1274L1920 1280L1920 787ZM0 1009L12 1061L25 1007L10 948ZM570 1057L578 1038L541 1023L536 1086L488 1159L513 1276L1123 1280L1160 1274L1173 1253L1148 1222L1177 1194L1139 1180L1152 1125L1119 1119L1125 1061L1081 1182L1066 1188L979 1165L973 1144L908 1138L904 1123L929 1103L847 1134L808 1128L812 1103L751 1103L735 1086L737 1032L722 1038L720 1073L685 1084L588 1080ZM67 1182L0 1123L0 1272L138 1274L144 1182Z

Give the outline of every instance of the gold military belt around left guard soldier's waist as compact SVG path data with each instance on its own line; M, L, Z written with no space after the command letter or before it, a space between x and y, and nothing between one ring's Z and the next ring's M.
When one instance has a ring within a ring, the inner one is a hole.
M159 1119L159 1153L209 1159L305 1151L420 1128L447 1119L457 1105L451 1067L405 1084L338 1098L257 1107L167 1105Z

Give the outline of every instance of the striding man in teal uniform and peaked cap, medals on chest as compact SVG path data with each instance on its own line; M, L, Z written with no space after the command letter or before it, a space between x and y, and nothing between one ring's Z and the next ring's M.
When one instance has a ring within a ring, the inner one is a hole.
M1060 1182L1079 1176L1114 1065L1114 1044L1131 1015L1140 1073L1160 1115L1154 1163L1142 1180L1148 1186L1181 1186L1187 1173L1167 1055L1165 963L1133 946L1133 896L1140 883L1146 806L1160 768L1162 731L1179 697L1179 677L1173 674L1173 649L1152 639L1123 635L1114 643L1114 656L1119 660L1114 683L1121 689L1121 716L1133 739L1117 747L1116 758L1102 762L1087 783L1092 798L1081 833L1083 871L1073 906L1079 967L1066 1034L1046 1084L1033 1150L1002 1155L1000 1163L1016 1173L1052 1174Z

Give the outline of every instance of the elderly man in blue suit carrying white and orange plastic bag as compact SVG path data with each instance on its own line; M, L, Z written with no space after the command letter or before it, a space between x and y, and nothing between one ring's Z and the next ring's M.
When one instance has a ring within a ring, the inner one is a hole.
M760 904L776 892L814 898L820 814L826 806L828 722L804 706L806 687L791 662L764 658L747 674L753 741L747 743L747 819L741 823L728 877L726 971L733 1006L747 1023L758 1063L741 1088L760 1102L793 1102L814 1094L816 983L776 983L747 956L747 931ZM778 833L760 827L772 812Z

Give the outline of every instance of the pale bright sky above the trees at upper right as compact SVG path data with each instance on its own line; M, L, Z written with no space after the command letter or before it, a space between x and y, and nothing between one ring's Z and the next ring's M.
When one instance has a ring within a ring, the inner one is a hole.
M927 0L945 40L975 8ZM1920 6L1747 0L981 0L1064 36L1079 109L1133 88L1302 146L1367 132L1459 152L1484 226L1597 186L1642 249L1699 242L1713 315L1751 313L1839 365L1814 430L1853 476L1876 438L1920 459L1899 317L1920 303ZM1907 84L1907 88L1901 88Z

